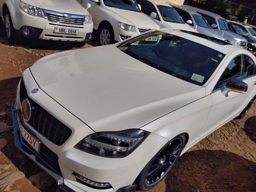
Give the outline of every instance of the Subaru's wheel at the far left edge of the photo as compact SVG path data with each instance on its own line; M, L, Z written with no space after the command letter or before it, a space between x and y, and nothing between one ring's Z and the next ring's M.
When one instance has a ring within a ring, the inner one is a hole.
M17 34L13 28L11 14L8 9L4 11L4 27L7 40L13 42L16 39Z

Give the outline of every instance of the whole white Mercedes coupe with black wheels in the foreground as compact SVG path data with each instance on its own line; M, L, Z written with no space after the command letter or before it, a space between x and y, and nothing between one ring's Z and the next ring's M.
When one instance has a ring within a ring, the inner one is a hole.
M156 186L256 95L255 57L174 29L46 56L12 106L15 144L66 191Z

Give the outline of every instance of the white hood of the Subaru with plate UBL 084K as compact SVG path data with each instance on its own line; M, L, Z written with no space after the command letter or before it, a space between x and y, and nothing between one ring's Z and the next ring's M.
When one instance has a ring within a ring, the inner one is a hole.
M22 2L50 11L76 15L89 15L89 12L84 9L76 0L22 0Z

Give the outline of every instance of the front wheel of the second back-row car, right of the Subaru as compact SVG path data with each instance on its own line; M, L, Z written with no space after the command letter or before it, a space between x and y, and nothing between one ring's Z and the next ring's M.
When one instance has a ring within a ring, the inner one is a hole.
M115 43L115 34L110 24L104 23L100 25L97 31L97 44L109 45Z

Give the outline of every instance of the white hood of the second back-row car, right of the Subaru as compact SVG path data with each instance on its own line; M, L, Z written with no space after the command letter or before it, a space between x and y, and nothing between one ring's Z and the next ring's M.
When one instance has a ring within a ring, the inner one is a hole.
M126 23L128 25L133 25L138 28L148 28L148 29L159 29L159 25L157 25L154 21L148 18L148 16L142 12L128 11L123 9L117 9L114 7L106 6L106 9L115 13L120 17L118 21ZM116 22L117 26L117 22Z

